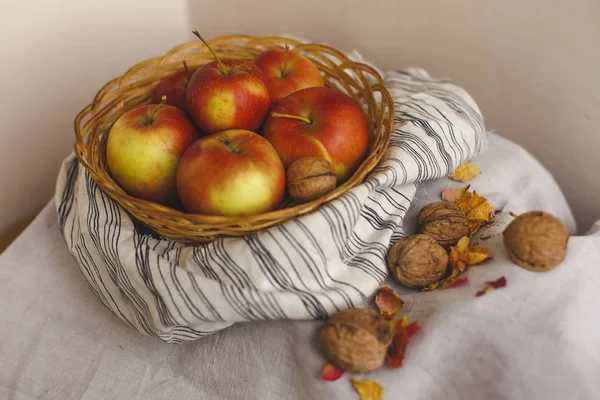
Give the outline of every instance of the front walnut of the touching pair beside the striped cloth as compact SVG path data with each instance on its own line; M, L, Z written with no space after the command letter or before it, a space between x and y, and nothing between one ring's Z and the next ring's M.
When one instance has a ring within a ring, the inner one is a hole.
M431 236L413 235L396 242L388 251L390 273L410 288L422 288L446 275L448 253Z

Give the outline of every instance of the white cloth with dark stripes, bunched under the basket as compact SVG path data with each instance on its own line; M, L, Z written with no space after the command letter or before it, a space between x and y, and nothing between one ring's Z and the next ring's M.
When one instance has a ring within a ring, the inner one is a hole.
M189 245L148 235L68 157L56 208L92 290L131 327L168 343L236 322L322 319L360 305L387 275L387 249L403 236L419 182L486 147L477 105L453 82L418 68L385 80L395 125L365 182L318 211L241 238Z

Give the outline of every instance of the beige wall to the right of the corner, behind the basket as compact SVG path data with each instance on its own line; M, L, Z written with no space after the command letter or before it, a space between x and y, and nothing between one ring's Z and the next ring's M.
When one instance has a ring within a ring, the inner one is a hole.
M600 2L190 0L206 37L289 32L356 48L383 69L462 84L488 128L559 181L580 223L600 218ZM518 193L515 193L518 196Z

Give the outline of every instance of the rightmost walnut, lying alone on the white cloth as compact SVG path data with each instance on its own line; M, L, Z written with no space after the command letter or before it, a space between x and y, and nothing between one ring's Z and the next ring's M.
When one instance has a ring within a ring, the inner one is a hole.
M567 227L543 211L521 214L508 224L502 236L513 262L531 271L554 268L567 254Z

